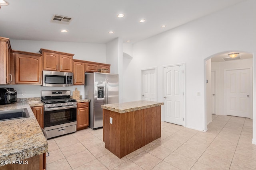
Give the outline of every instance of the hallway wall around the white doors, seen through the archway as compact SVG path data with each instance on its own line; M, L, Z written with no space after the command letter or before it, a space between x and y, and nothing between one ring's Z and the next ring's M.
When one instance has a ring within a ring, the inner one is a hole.
M225 61L225 62L212 62L212 70L216 70L215 96L216 96L216 114L217 115L224 115L225 113L224 70L252 68L252 63L253 63L252 59L234 60L234 61ZM252 72L251 72L251 80L252 80ZM251 107L251 110L252 110L252 107Z

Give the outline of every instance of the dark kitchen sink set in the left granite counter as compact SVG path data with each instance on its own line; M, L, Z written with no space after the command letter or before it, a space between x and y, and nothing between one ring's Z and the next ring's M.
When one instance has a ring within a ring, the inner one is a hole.
M0 121L29 117L28 109L12 109L0 111Z

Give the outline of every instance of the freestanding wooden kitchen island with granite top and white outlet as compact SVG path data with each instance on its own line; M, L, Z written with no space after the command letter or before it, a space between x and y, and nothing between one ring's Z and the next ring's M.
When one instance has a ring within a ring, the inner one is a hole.
M102 105L106 149L122 158L161 137L163 104L141 100Z

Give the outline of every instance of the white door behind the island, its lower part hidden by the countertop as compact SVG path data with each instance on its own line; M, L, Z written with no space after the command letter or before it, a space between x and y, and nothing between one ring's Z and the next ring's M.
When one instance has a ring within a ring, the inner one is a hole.
M142 70L142 100L156 102L156 69Z

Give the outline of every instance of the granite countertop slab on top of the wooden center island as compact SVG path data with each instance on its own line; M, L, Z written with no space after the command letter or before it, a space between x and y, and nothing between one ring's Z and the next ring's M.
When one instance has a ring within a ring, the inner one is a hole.
M110 111L115 111L118 113L127 113L130 111L136 111L141 109L147 109L150 107L156 107L164 105L162 102L151 102L146 100L126 102L126 103L117 103L117 104L105 104L101 107Z

